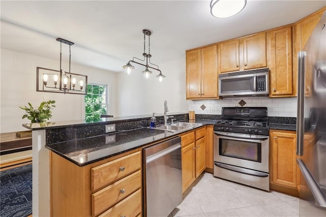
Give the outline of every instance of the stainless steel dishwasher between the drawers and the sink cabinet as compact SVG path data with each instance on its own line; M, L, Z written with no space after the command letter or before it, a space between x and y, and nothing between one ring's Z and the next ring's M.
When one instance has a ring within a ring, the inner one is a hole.
M168 216L182 201L181 138L143 151L144 214Z

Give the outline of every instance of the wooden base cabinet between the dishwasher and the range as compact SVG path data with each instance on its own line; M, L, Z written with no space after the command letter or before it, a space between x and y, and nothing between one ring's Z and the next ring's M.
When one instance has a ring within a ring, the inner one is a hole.
M206 169L206 127L181 136L182 192Z

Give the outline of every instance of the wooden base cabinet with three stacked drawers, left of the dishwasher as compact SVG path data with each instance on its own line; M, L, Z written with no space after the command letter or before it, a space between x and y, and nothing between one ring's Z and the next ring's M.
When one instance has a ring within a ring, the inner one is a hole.
M51 216L142 215L140 151L84 167L50 154Z

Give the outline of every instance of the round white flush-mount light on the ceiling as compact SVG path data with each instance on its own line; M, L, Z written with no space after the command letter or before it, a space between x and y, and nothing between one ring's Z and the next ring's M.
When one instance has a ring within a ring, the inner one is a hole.
M212 0L210 13L217 18L226 18L242 11L246 4L247 0Z

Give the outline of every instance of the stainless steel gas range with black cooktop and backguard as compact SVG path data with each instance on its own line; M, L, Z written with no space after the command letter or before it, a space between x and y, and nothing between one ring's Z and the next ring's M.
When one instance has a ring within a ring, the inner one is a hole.
M214 124L214 176L269 191L266 107L223 107Z

